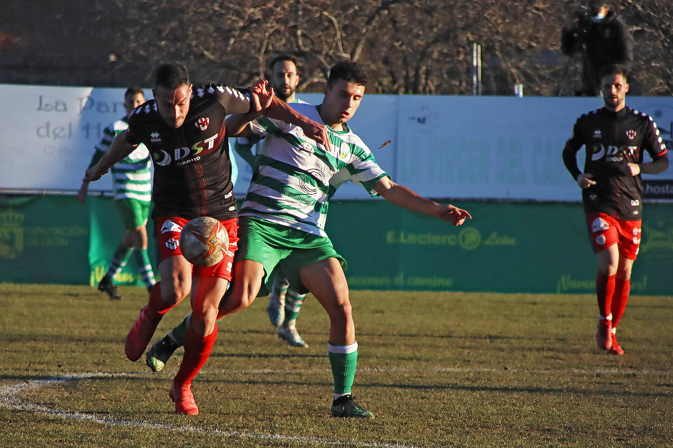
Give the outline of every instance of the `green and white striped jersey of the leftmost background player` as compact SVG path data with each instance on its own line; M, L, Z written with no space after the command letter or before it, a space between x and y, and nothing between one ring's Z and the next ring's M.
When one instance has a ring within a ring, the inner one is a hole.
M90 167L93 167L100 161L100 158L110 148L114 137L129 127L129 118L110 124L103 130L103 138L96 145L96 153L92 159ZM138 199L139 201L151 201L152 192L152 174L150 167L152 165L149 156L149 150L144 144L139 144L131 154L118 161L112 166L112 187L114 188L114 199Z

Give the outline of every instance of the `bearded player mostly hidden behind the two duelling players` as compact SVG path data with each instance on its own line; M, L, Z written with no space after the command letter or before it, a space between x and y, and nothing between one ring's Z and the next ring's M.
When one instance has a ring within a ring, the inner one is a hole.
M269 62L271 69L271 78L269 83L279 99L285 103L303 103L295 95L297 85L299 85L299 75L297 75L297 58L290 54L281 54ZM260 136L238 137L234 143L234 150L250 167L254 168L254 158L258 151ZM277 272L273 279L271 287L271 296L269 296L269 307L267 313L273 326L278 327L278 336L285 339L289 345L294 347L308 347L308 344L297 331L295 326L299 309L302 308L306 294L299 294L295 287L289 284L282 272ZM168 359L168 358L166 358Z

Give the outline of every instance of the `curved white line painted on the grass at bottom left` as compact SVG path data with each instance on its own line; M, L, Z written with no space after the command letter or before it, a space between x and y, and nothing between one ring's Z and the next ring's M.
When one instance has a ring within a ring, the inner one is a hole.
M15 410L22 410L28 412L37 412L40 414L47 414L50 416L57 416L61 418L67 418L69 420L85 421L85 422L95 422L101 424L115 424L118 426L124 427L135 427L143 429L158 429L164 431L188 431L192 433L206 434L206 435L218 435L221 437L240 437L244 439L255 439L262 441L282 441L282 442L302 442L302 443L311 443L314 445L328 445L335 447L362 447L362 448L430 448L430 447L419 447L417 445L407 445L406 443L378 443L378 442L352 442L352 441L339 441L339 440L330 440L322 439L320 437L301 437L301 436L289 436L282 434L262 434L262 433L244 433L241 431L225 431L221 429L203 429L194 427L192 425L184 426L174 426L172 424L166 423L151 423L143 422L141 420L123 420L121 418L110 418L110 417L98 417L94 414L87 414L84 412L71 412L66 410L57 410L46 408L38 404L23 402L17 395L23 392L24 390L32 388L40 388L42 386L53 386L59 383L65 383L70 381L75 381L77 379L86 379L86 378L110 378L114 376L137 376L137 375L147 375L146 373L113 373L113 374L102 374L102 373L83 373L82 375L68 375L63 377L54 377L48 379L35 379L29 382L23 382L18 384L12 384L9 386L0 386L0 408L9 408Z

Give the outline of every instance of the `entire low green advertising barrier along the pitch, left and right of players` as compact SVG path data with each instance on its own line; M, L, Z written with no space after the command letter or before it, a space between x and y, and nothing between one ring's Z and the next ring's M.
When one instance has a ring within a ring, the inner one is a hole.
M352 289L593 294L598 269L581 204L456 202L463 226L384 200L335 201L327 231ZM673 206L645 204L633 294L673 294ZM151 224L150 224L151 225ZM95 286L124 230L110 197L0 201L0 281ZM148 226L149 253L154 242ZM155 270L155 273L157 271ZM131 257L118 284L141 285Z

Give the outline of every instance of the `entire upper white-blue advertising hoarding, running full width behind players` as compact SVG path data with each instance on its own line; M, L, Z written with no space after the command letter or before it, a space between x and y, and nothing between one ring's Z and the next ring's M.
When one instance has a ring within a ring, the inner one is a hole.
M0 189L79 189L102 130L125 114L124 91L0 85L7 106L0 110ZM145 95L150 98L151 91ZM299 97L322 100L316 93ZM651 115L670 142L673 98L627 97L627 105ZM600 98L365 95L349 125L394 181L421 195L577 201L561 150L576 118L599 107ZM581 169L583 150L577 159ZM235 191L241 196L252 173L242 159L237 163ZM643 177L673 179L673 166ZM110 179L91 189L110 189ZM349 184L335 196L368 198L362 187Z

